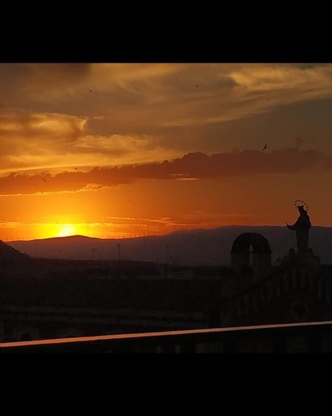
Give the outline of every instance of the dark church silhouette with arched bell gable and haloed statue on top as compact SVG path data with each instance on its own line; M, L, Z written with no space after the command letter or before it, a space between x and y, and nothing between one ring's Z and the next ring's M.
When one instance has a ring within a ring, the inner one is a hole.
M287 224L297 233L297 250L290 248L277 267L271 267L271 251L263 236L237 237L232 249L237 280L221 322L258 325L332 319L332 266L322 265L308 248L310 219L303 206L298 209L298 221Z

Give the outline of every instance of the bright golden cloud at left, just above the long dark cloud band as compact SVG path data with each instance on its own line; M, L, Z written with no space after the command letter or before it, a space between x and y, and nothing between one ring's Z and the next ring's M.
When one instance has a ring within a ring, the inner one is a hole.
M99 118L98 118L99 119ZM7 109L0 116L0 171L140 163L177 156L149 135L92 135L89 117Z

